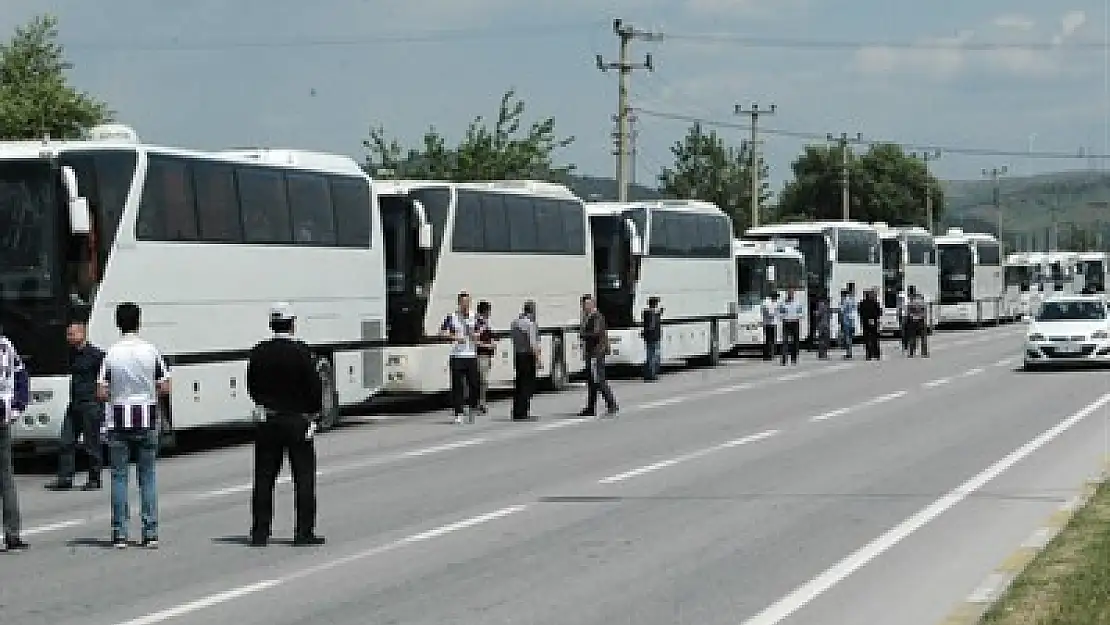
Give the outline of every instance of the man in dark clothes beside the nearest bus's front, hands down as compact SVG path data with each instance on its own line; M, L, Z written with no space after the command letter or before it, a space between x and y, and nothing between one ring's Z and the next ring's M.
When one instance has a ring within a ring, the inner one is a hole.
M47 484L47 488L51 491L68 491L73 487L79 438L83 438L82 446L89 456L89 478L81 490L98 491L101 487L104 452L100 426L104 407L97 400L97 376L104 362L104 352L89 342L88 331L83 320L72 321L65 327L65 340L70 344L70 403L62 422L58 478Z

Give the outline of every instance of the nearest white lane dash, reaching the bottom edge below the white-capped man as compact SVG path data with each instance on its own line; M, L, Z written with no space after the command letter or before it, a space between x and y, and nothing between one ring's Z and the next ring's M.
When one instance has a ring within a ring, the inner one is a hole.
M283 584L289 584L290 582L294 582L296 579L309 577L310 575L315 575L315 574L322 573L324 571L336 568L339 566L343 566L343 565L350 564L352 562L357 562L360 560L365 560L367 557L374 557L374 556L382 555L382 554L387 553L387 552L392 552L392 551L398 550L401 547L405 547L405 546L408 546L408 545L414 545L416 543L423 543L425 541L431 541L432 538L438 538L441 536L445 536L447 534L460 532L462 530L468 530L471 527L474 527L474 526L477 526L477 525L482 525L484 523L490 523L490 522L496 521L498 518L504 518L506 516L511 516L513 514L523 512L524 510L527 510L527 507L528 507L527 505L514 505L514 506L503 507L503 508L494 511L494 512L488 512L486 514L482 514L482 515L478 515L478 516L472 516L470 518L464 518L463 521L457 521L457 522L451 523L448 525L442 525L440 527L434 527L434 528L428 530L426 532L421 532L418 534L413 534L411 536L405 536L404 538L400 538L397 541L393 541L392 543L385 543L385 544L382 544L382 545L376 545L376 546L373 546L373 547L371 547L369 550L365 550L365 551L362 551L362 552L359 552L359 553L354 553L354 554L351 554L351 555L347 555L347 556L343 556L343 557L340 557L340 558L336 558L336 560L331 560L331 561L317 564L315 566L310 566L310 567L306 567L306 568L294 571L294 572L292 572L292 573L290 573L287 575L281 576L281 577L274 577L274 578L271 578L271 579L262 579L262 581L255 582L253 584L248 584L248 585L244 585L244 586L239 586L236 588L231 588L229 591L223 591L221 593L214 593L214 594L211 594L211 595L208 595L208 596L203 596L201 598L198 598L198 599L194 599L194 601L191 601L191 602L188 602L188 603L183 603L183 604L180 604L180 605L175 605L175 606L167 608L167 609L162 609L162 611L159 611L159 612L147 614L147 615L140 616L138 618L132 618L131 621L125 621L125 622L120 623L118 625L155 625L158 623L164 623L167 621L171 621L171 619L176 618L179 616L184 616L184 615L188 615L188 614L200 612L202 609L205 609L205 608L209 608L209 607L212 607L212 606L215 606L215 605L220 605L220 604L228 603L228 602L231 602L231 601L234 601L234 599L238 599L238 598L245 597L248 595L260 593L262 591L274 588L274 587L281 586Z

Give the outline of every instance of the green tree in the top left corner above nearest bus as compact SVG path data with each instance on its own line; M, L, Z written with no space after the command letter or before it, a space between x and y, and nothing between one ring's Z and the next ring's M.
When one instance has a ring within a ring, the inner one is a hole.
M58 19L40 16L0 44L0 139L75 139L111 121L108 104L69 84Z

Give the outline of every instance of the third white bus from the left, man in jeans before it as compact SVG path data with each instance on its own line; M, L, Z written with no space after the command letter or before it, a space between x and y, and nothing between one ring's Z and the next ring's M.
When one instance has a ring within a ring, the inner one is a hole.
M726 213L698 200L592 202L586 211L597 303L609 325L608 364L644 363L642 311L650 296L664 309L662 362L716 365L733 350L736 268Z

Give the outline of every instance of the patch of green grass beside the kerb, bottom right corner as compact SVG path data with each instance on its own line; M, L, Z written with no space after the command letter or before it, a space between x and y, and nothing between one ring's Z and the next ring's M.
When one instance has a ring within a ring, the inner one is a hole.
M1049 543L981 625L1110 625L1110 483Z

